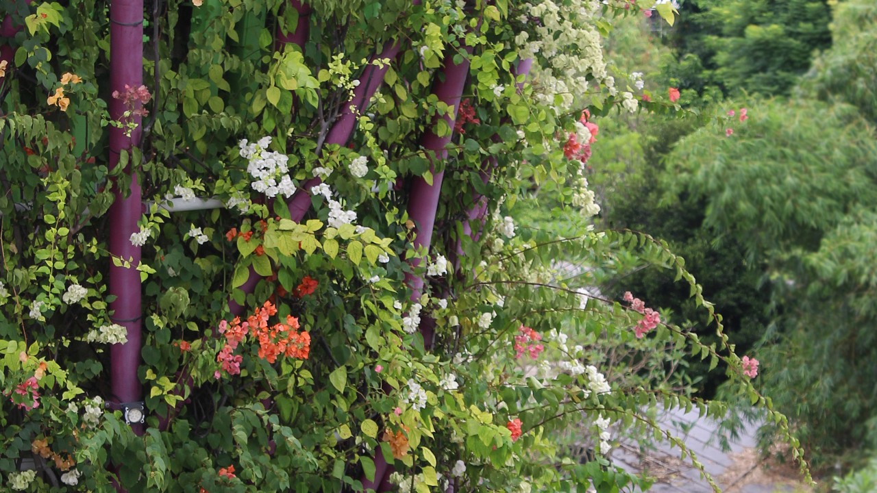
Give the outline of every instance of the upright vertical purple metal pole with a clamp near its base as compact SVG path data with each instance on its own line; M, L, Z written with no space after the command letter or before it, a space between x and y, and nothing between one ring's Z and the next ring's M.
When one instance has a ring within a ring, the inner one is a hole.
M143 0L113 0L110 5L110 90L125 93L125 85L139 88L143 83ZM139 103L135 103L139 107ZM127 108L120 98L110 100L110 118L119 120ZM137 124L130 136L123 129L110 127L110 168L118 166L119 153L138 146L140 141L139 116L132 116ZM134 247L131 235L139 232L137 221L142 213L142 199L137 175L133 173L139 162L130 162L125 170L131 184L116 191L110 207L110 254L130 262L130 267L110 266L109 294L116 297L110 304L113 323L128 331L125 344L110 349L112 401L117 404L137 403L143 400L143 389L137 377L142 345L140 247ZM142 434L142 425L132 425L135 433Z

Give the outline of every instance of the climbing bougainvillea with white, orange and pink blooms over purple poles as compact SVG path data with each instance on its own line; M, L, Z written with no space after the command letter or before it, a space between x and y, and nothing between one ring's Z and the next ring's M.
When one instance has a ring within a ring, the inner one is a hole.
M660 369L689 356L784 425L724 337L557 270L624 247L721 333L665 244L508 214L540 189L595 216L590 115L676 108L602 60L652 7L0 5L4 487L617 491L650 409L723 412Z

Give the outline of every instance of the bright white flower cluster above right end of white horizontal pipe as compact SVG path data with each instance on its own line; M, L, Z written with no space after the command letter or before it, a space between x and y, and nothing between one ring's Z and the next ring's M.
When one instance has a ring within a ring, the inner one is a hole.
M250 161L246 172L255 178L250 186L269 197L292 196L296 193L296 185L289 178L289 156L268 151L270 145L270 137L263 137L254 144L242 139L238 144L240 157Z

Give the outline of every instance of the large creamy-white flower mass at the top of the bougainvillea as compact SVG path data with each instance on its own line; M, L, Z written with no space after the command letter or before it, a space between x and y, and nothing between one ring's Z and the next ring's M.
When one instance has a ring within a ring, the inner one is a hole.
M536 64L532 74L538 102L554 105L554 97L560 96L563 104L556 111L567 112L574 96L588 88L588 74L596 82L607 77L602 39L595 23L600 0L545 0L528 7L527 15L520 20L534 26L533 33L520 32L515 43L521 58L541 54L547 61Z

